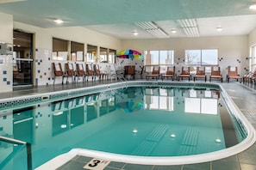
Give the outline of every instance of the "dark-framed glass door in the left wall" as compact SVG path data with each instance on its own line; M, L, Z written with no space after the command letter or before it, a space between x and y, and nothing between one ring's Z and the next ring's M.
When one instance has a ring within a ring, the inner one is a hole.
M33 84L33 33L14 30L13 85Z

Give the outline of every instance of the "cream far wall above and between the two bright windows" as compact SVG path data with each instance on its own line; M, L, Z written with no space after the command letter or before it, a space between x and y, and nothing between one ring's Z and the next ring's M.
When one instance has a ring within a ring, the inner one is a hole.
M238 66L240 75L245 73L244 68L248 67L247 57L249 56L248 37L220 36L202 38L176 38L176 39L133 39L122 40L122 48L134 49L139 52L146 50L174 50L175 58L184 58L185 50L218 49L219 62L222 68L224 79L227 75L228 65ZM175 59L175 60L176 60Z

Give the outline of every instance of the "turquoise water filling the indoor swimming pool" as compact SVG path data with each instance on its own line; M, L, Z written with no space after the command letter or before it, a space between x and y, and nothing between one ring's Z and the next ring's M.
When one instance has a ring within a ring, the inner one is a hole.
M247 137L215 88L122 88L13 109L0 118L2 136L32 143L33 167L75 148L122 155L200 155ZM24 147L0 147L0 168L26 169Z

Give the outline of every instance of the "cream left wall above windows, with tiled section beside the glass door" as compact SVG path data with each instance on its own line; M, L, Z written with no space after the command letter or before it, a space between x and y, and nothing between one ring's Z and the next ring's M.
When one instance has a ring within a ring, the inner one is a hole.
M21 22L14 22L14 27L22 29L25 32L34 33L34 85L53 84L52 48L53 37L59 39L71 40L84 44L84 54L86 54L86 45L105 47L119 51L121 49L121 40L110 37L103 33L97 33L85 27L52 27L42 28L34 27ZM99 54L99 52L97 52ZM62 62L63 69L64 63ZM85 68L85 67L84 67ZM104 67L106 69L106 67ZM61 83L58 77L55 83Z

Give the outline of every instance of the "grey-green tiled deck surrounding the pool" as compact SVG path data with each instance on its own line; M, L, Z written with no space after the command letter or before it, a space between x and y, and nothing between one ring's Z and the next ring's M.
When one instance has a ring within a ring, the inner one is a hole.
M199 81L197 81L199 82ZM49 85L41 87L23 87L23 88L14 88L14 92L11 93L2 93L0 99L16 97L34 93L48 93L53 91L60 91L72 88L84 88L97 86L100 84L111 83L110 81L106 82L85 82L85 83L72 83L65 85ZM240 108L240 111L246 116L248 121L253 125L254 129L256 128L256 90L252 87L249 88L246 85L239 82L222 82L222 87L226 89L228 95L234 100L236 106ZM256 170L256 144L254 143L249 149L228 158L217 160L217 161L208 161L197 164L190 165L178 165L178 166L154 166L154 165L137 165L130 164L125 162L115 162L111 161L106 170ZM77 155L71 161L68 161L65 165L59 167L59 170L78 170L86 169L83 168L88 162L93 158ZM96 168L94 168L96 169ZM101 169L101 168L100 168Z

